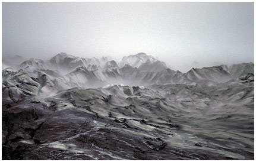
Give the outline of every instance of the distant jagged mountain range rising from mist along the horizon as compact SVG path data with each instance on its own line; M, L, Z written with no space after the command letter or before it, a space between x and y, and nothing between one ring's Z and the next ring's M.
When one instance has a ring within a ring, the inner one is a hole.
M111 57L96 59L95 57L83 58L59 53L48 61L31 58L21 63L19 67L30 73L56 71L60 76L56 77L57 75L52 75L52 72L45 74L50 79L49 82L54 80L55 84L65 85L64 88L75 88L75 86L90 88L113 83L129 86L165 85L168 83L213 85L245 77L248 73L254 74L254 63L233 64L229 67L222 64L201 69L192 68L187 73L182 73L169 69L163 61L148 56L146 53L124 56L119 62ZM86 73L77 70L85 70ZM84 84L81 84L82 82Z

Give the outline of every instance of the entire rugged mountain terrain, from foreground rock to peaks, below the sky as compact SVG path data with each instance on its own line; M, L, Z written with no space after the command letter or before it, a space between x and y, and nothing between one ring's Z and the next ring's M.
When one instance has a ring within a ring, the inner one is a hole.
M253 160L254 63L2 59L3 160Z

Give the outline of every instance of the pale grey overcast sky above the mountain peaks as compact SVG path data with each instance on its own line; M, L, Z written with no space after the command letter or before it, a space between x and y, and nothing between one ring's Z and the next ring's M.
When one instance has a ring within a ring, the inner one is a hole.
M173 70L254 62L253 2L2 2L2 54L139 52Z

